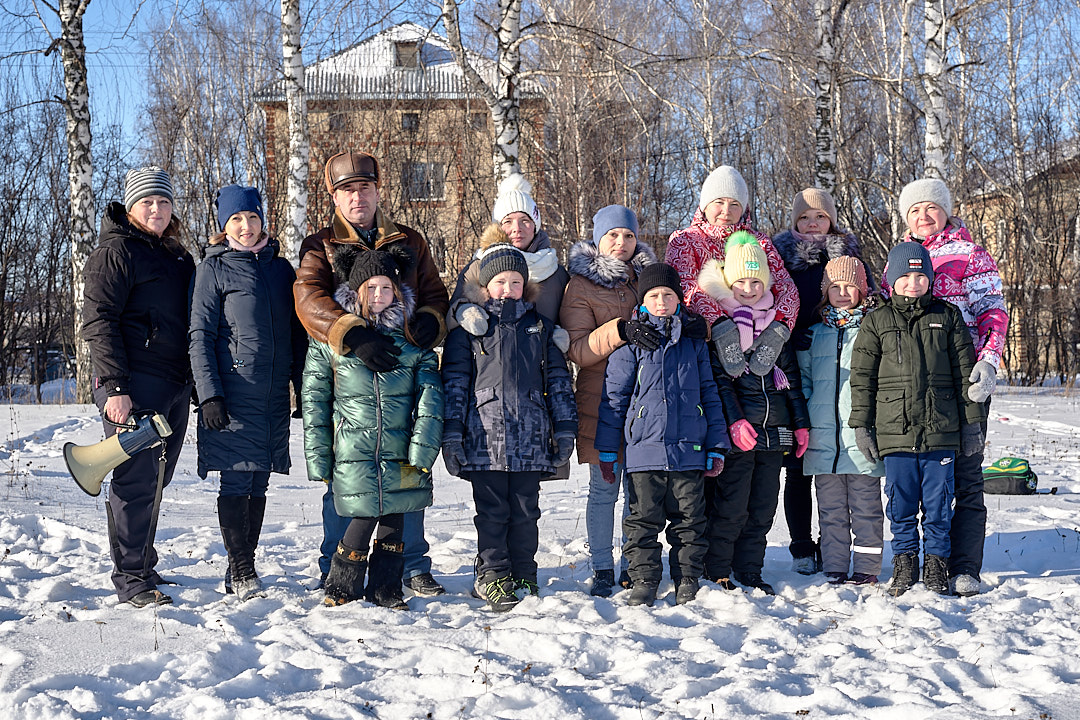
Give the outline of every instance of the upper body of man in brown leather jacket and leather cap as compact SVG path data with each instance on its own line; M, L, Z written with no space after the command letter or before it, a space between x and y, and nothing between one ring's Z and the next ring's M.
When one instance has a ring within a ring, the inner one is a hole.
M416 313L409 318L409 330L423 349L437 345L446 336L445 317L450 307L446 286L420 233L395 225L379 209L379 163L375 158L364 152L336 154L326 162L324 179L334 198L334 217L328 227L308 235L300 245L300 268L293 288L297 315L311 337L338 354L351 350L376 372L392 369L397 365L393 342L364 326L334 299L335 249L354 245L386 250L401 244L416 255L416 269L404 284L416 291Z

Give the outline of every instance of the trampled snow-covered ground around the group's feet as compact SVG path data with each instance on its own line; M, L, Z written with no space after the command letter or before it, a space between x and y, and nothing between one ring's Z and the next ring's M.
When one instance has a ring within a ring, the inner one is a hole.
M675 607L589 596L585 474L542 488L541 597L492 615L467 594L469 487L437 468L428 514L450 593L410 612L328 609L313 592L322 487L274 476L257 562L268 597L220 594L216 483L193 430L158 531L176 604L111 590L99 499L65 441L102 436L87 406L0 412L2 718L1080 718L1080 399L995 398L989 458L1031 459L1055 495L990 497L984 593L833 587L789 569L782 518L765 575L780 594L707 585ZM295 421L298 423L299 421ZM886 551L886 570L891 562ZM883 579L885 580L885 579Z

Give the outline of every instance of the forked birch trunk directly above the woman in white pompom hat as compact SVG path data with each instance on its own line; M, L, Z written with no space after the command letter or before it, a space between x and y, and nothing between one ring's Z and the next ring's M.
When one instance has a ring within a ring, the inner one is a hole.
M469 87L480 95L491 112L495 126L496 184L522 172L521 90L522 0L499 0L499 27L495 85L486 81L469 60L461 42L458 0L443 0L443 24L454 58L464 73Z

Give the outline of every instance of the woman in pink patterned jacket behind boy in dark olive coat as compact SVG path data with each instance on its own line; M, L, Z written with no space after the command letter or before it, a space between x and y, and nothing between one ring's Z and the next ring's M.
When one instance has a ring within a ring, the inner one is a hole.
M1009 329L998 266L971 239L963 221L953 216L953 196L943 181L923 178L906 185L900 193L900 212L908 228L904 240L922 243L930 252L934 264L933 296L959 308L971 332L977 362L971 371L968 395L976 403L988 404L997 384ZM977 430L985 438L985 422ZM980 450L957 458L954 471L956 506L949 531L953 544L949 576L953 592L962 596L978 593L983 569L986 504L982 465Z

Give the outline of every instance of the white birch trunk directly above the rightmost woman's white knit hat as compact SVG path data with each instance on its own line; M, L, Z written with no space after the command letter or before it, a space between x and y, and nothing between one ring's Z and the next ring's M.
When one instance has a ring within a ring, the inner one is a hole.
M945 179L948 116L945 111L945 0L924 0L922 27L926 35L922 82L926 135L922 162L927 177Z

